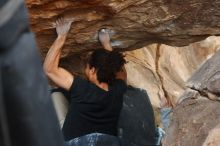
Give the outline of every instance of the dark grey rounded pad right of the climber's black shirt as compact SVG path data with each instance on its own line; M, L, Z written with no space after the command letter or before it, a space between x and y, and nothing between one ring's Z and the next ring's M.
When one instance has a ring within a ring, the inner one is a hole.
M154 112L142 89L129 86L119 118L119 138L123 146L154 146L156 143Z

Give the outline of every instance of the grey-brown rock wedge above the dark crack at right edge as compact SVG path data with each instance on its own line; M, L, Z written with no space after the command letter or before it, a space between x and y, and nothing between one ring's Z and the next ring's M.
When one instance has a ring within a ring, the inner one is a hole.
M212 100L220 100L220 51L189 79L187 86Z

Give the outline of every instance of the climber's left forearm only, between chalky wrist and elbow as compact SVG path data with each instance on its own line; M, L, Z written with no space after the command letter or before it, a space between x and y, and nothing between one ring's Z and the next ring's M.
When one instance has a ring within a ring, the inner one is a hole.
M58 36L51 48L49 49L44 61L44 70L46 72L51 72L55 69L58 69L61 48L63 47L65 40L66 35Z

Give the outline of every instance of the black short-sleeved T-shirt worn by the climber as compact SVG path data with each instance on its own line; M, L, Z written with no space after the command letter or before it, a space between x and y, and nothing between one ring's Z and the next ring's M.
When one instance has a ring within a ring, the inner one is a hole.
M109 91L75 77L70 89L71 104L63 134L66 141L90 133L117 135L117 124L127 86L116 80Z

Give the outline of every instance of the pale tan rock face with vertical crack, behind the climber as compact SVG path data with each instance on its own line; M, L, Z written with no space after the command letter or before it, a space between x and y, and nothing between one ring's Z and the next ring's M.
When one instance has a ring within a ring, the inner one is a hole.
M219 48L220 37L209 37L187 47L153 44L126 52L128 83L146 89L156 107L163 97L175 105L186 81Z

